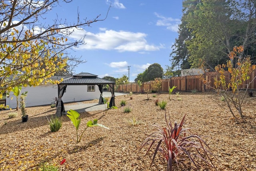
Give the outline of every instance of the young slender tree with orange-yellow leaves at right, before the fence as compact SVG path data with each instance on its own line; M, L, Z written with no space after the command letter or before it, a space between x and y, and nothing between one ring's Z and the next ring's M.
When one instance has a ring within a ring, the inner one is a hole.
M225 97L228 109L234 118L236 118L234 110L239 113L240 117L244 117L242 103L248 91L248 87L256 79L256 76L254 76L254 78L251 79L252 81L248 82L256 65L252 65L249 55L242 56L243 51L244 46L235 46L233 51L228 55L230 60L227 61L227 64L219 64L215 67L215 71L218 72L218 77L214 78L214 87L210 86L208 80L203 80L204 84L214 89L219 95ZM230 76L228 82L226 81L226 70ZM240 89L243 85L246 87L246 91Z

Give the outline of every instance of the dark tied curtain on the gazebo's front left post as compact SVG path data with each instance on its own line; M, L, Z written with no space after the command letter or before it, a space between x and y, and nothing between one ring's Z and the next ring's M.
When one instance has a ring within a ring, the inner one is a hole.
M63 101L61 99L61 97L63 96L63 94L66 91L66 87L67 87L67 85L65 85L65 84L58 84L58 99L57 99L57 103L56 103L56 107L57 107L56 116L57 117L60 117L61 115L66 113Z

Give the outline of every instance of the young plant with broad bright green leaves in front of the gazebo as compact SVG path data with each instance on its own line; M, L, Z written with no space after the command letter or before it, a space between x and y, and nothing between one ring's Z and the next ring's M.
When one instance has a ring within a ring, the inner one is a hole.
M76 143L79 143L81 141L81 138L85 132L85 130L88 128L88 127L96 127L96 126L99 126L99 127L103 127L103 128L106 128L106 129L109 129L108 127L98 123L98 119L93 119L93 121L88 121L86 123L86 127L84 128L84 131L82 132L82 134L80 135L80 138L78 140L78 129L79 129L79 125L80 125L80 122L81 122L81 118L80 117L80 114L75 111L75 110L72 110L70 109L68 111L68 114L67 116L69 117L69 119L71 120L71 122L73 123L74 127L76 128Z

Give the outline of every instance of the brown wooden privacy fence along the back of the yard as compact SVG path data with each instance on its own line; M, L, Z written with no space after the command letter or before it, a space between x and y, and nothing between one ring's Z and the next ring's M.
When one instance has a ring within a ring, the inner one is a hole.
M230 80L230 74L228 71L224 72L226 82ZM256 70L253 70L250 79L246 82L243 82L240 88L246 89L246 85L252 81L252 79L256 76ZM202 82L202 78L205 78L207 81L210 82L209 86L206 86ZM214 87L214 78L218 78L217 72L206 72L203 75L195 75L195 76L182 76L182 77L172 77L170 79L162 79L162 86L160 91L169 91L169 87L177 86L179 91L191 91L196 89L197 91L206 91L211 90L210 87ZM133 92L133 93L142 93L147 90L154 90L153 89L153 82L144 82L139 87L137 83L130 83L130 84L122 84L116 86L115 91L118 92ZM249 89L256 89L256 79L249 85Z

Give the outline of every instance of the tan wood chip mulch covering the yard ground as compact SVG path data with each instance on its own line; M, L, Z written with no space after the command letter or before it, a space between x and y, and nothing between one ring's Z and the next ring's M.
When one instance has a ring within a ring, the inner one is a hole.
M166 170L167 162L160 153L150 167L153 151L145 155L146 148L138 153L142 141L156 131L153 125L166 126L165 110L154 101L167 101L166 111L171 120L180 122L186 114L184 127L192 127L209 145L216 156L212 162L218 171L256 170L256 97L246 97L243 118L233 118L224 101L214 92L182 92L168 98L168 93L120 95L116 97L118 109L80 113L82 118L78 134L81 135L86 122L99 119L98 123L110 128L88 128L80 143L76 143L76 129L67 116L62 116L62 127L51 132L48 119L56 108L48 106L27 107L29 119L21 122L17 116L8 119L9 110L0 111L0 170L40 170L42 165L53 165L65 171L160 171ZM130 99L132 97L132 99ZM218 103L216 104L213 99ZM124 113L120 101L126 100L131 108ZM85 101L95 103L98 100ZM68 105L68 104L66 104ZM70 105L70 104L69 104ZM12 110L14 111L14 110ZM128 119L133 116L142 123L132 127ZM6 124L4 124L6 120ZM65 159L65 162L61 161ZM185 156L185 165L180 170L196 170ZM206 163L196 160L200 170L215 170ZM177 170L174 163L174 170Z

